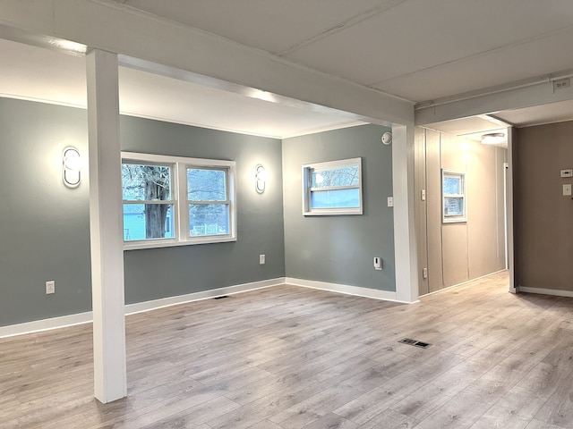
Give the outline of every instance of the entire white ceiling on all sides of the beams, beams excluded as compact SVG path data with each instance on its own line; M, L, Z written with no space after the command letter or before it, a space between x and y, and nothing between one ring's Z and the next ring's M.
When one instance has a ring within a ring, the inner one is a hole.
M571 0L116 0L416 103L573 71ZM83 58L0 40L0 95L85 105ZM355 124L122 68L126 114L276 138ZM498 112L517 126L573 119L573 102ZM481 119L481 131L499 123ZM459 121L459 120L458 120ZM468 120L469 121L469 120ZM432 124L468 134L470 122Z

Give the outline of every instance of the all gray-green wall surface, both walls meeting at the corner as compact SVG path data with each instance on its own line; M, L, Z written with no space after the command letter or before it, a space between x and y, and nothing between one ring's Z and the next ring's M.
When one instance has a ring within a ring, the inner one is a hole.
M386 130L363 125L280 141L122 116L125 151L235 160L237 168L238 240L125 251L125 302L286 276L396 290ZM84 110L0 98L0 326L91 309L88 172L78 189L65 188L61 158L74 146L87 165L87 135ZM304 217L302 165L356 156L364 214ZM262 195L256 164L269 172ZM372 257L383 259L382 271ZM48 280L54 295L45 293Z

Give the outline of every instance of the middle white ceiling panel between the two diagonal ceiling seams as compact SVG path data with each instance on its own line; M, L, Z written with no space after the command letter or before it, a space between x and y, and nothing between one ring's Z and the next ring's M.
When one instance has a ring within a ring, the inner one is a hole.
M502 46L518 46L524 40L543 37L573 22L570 6L569 13L545 16L543 2L529 3L527 8L512 7L515 3L410 0L286 56L372 85L483 55ZM468 78L471 83L471 77ZM413 99L423 99L423 95Z

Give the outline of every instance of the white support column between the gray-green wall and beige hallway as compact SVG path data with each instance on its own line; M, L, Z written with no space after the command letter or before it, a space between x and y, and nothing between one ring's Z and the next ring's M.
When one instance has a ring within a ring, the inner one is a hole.
M415 242L414 126L392 127L394 253L399 301L418 300L418 258Z

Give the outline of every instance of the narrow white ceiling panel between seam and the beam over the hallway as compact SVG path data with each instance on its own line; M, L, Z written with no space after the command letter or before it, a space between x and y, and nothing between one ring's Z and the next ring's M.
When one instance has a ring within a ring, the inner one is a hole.
M418 102L491 88L573 70L573 55L555 55L569 52L571 46L573 27L517 46L386 80L373 88Z

